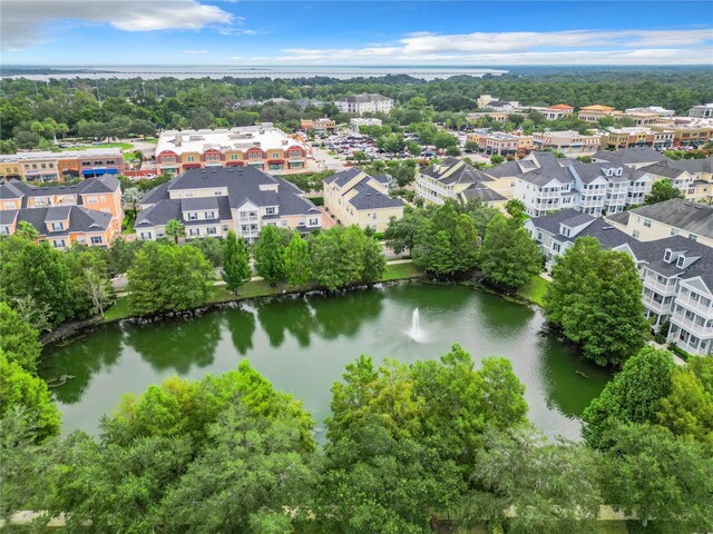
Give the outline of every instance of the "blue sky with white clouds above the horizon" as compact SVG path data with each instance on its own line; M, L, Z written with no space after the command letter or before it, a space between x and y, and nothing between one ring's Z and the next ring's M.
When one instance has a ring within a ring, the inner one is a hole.
M713 0L2 0L1 65L713 65Z

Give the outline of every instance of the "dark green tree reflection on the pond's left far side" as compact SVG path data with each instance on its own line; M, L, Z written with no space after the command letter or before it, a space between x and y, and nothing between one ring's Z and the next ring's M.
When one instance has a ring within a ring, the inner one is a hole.
M154 370L162 373L186 374L194 365L207 367L213 363L219 340L221 324L211 314L193 319L131 325L126 330L126 345Z

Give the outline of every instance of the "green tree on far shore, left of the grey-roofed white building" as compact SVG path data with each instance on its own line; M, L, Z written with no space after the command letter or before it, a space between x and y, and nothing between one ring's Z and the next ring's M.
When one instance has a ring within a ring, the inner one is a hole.
M480 269L489 280L509 288L520 287L539 274L543 255L529 233L496 215L482 241Z

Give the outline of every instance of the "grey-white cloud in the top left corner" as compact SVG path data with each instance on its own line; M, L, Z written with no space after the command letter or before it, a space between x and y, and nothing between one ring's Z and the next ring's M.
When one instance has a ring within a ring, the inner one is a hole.
M2 50L20 50L47 40L52 21L109 23L125 31L201 30L229 26L240 18L197 0L2 0Z

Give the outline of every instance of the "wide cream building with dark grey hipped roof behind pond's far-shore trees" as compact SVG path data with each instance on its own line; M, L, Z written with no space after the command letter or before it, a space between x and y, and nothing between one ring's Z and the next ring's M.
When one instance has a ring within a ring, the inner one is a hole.
M322 214L289 181L254 167L188 169L141 199L134 228L138 239L166 235L166 224L183 222L188 239L235 231L254 243L263 226L306 235L321 228Z

